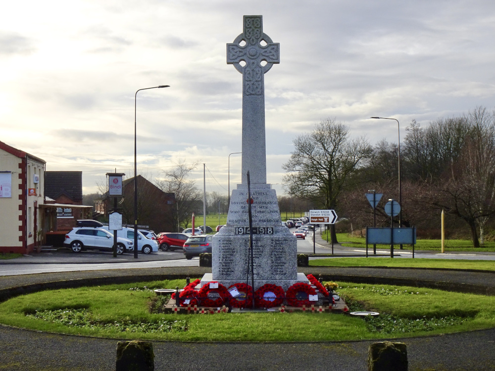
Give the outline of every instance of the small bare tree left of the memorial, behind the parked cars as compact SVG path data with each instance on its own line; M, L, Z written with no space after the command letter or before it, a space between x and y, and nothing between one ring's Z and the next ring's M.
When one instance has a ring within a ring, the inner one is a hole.
M198 163L186 164L186 160L179 159L171 170L162 172L163 179L157 179L156 185L164 192L175 193L177 214L175 222L177 228L187 228L195 206L202 200L202 192L196 187L196 182L189 179L189 174L198 166Z

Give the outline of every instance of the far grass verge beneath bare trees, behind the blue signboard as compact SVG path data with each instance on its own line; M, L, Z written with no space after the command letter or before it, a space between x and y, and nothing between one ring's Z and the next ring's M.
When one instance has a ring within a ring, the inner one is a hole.
M316 241L318 241L319 230L316 230ZM321 238L327 240L327 232L323 232ZM330 239L330 234L328 235ZM340 244L347 247L359 247L366 248L366 238L356 237L348 233L337 233L337 240ZM380 249L390 249L390 245L376 245ZM373 249L373 245L368 245L368 248ZM398 249L399 245L395 245L394 249ZM412 245L403 245L406 250L412 250ZM442 240L440 239L418 239L414 245L415 250L433 250L440 251L442 249ZM479 251L479 252L495 252L495 242L485 242L483 247L474 248L473 243L470 240L464 239L448 239L445 241L445 251Z

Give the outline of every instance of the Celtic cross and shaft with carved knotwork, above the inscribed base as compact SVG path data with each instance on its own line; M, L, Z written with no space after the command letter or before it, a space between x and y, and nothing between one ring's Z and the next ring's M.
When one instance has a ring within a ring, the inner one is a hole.
M247 183L247 171L251 184L266 183L263 75L273 63L280 63L280 44L263 33L261 15L245 15L244 32L227 44L227 64L243 74L243 184Z

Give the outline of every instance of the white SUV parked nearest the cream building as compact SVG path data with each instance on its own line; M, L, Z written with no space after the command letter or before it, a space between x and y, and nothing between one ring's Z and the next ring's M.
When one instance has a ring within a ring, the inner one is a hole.
M113 234L102 228L75 227L65 235L63 245L74 252L90 249L113 251ZM132 247L132 240L117 237L117 254L122 254Z

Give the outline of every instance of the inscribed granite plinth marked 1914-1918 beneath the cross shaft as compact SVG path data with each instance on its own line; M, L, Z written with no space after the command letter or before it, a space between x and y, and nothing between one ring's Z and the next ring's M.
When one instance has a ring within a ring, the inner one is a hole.
M201 285L211 280L228 287L246 282L248 271L249 219L247 185L232 191L227 224L213 237L211 274L201 279ZM272 283L287 290L297 282L308 282L297 273L297 239L282 225L275 189L269 184L251 186L253 226L254 290Z

